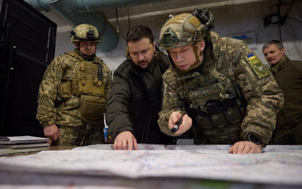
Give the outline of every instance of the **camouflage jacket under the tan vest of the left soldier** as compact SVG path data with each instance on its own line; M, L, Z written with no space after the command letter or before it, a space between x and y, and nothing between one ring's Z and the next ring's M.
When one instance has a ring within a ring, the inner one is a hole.
M74 49L78 53L77 49ZM105 99L107 99L111 72L106 64L98 58L94 57L92 62L99 62L102 65L103 81L105 82ZM81 60L76 59L68 54L55 57L47 66L43 75L37 108L37 119L43 127L57 124L63 126L80 126L85 124L87 120L81 117L79 111L80 96L71 95L68 99L62 99L59 93L59 87L63 82L76 80L77 68ZM100 124L104 125L103 119Z

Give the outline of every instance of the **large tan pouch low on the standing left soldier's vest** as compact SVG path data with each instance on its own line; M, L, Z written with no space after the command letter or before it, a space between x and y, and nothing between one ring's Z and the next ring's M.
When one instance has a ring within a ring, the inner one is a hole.
M98 96L81 95L80 112L82 117L99 119L104 115L105 99Z

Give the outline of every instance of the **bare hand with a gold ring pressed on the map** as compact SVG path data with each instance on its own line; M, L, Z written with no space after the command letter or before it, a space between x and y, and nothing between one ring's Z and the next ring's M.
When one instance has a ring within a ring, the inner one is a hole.
M115 150L138 150L136 139L130 131L119 133L115 140L113 148Z

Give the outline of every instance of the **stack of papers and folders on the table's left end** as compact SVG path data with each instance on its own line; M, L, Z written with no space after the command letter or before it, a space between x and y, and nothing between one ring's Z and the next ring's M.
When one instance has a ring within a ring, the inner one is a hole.
M0 149L31 148L49 146L48 138L19 136L7 137L9 141L0 141Z

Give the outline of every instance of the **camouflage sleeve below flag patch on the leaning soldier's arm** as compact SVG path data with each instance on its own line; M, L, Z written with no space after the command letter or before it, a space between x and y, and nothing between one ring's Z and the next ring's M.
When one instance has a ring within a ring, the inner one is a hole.
M266 146L275 129L276 113L282 108L284 97L275 78L265 66L263 68L267 74L264 77L253 70L244 57L252 51L245 43L242 45L235 69L236 82L247 101L246 115L241 125L242 135L246 138L248 133L253 133L260 137L263 146Z

